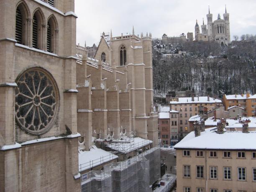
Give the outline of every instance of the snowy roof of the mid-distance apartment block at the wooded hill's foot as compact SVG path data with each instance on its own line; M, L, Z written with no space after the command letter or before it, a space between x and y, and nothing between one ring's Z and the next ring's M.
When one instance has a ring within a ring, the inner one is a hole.
M170 101L170 104L181 104L181 103L221 103L221 100L214 99L209 97L194 97L194 101L192 101L192 97L179 97L179 101Z

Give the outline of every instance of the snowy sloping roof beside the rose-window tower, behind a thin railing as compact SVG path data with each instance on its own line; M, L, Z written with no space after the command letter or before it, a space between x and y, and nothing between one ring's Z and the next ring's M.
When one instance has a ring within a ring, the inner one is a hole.
M114 155L108 151L104 151L103 149L97 148L96 146L92 146L90 151L79 151L79 171L90 169L117 158L117 155Z

